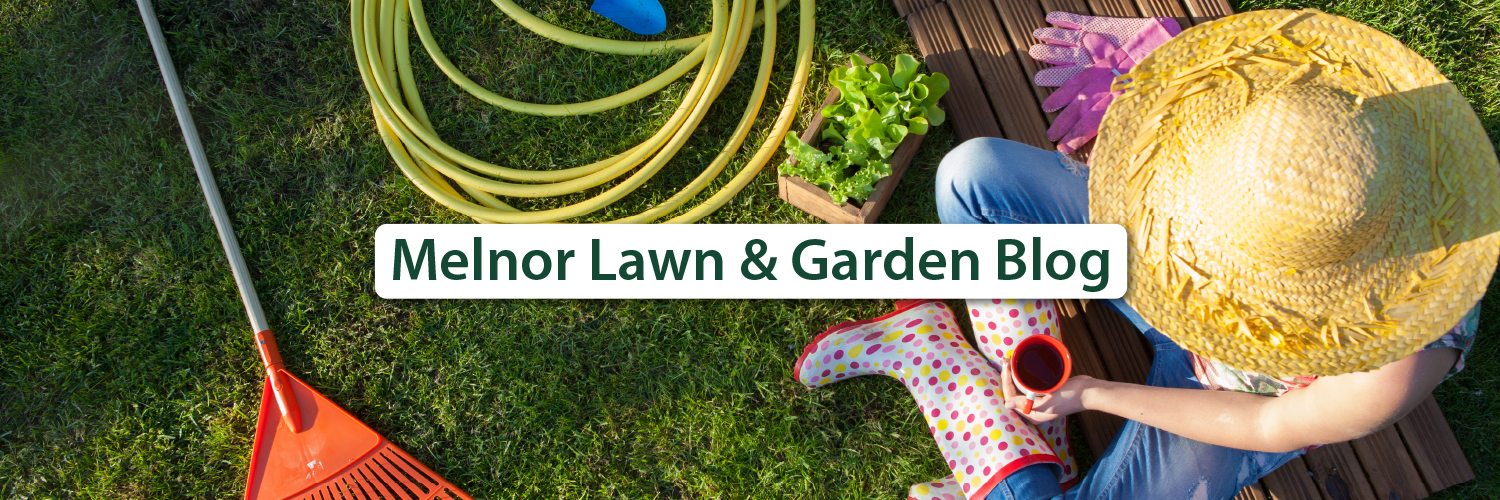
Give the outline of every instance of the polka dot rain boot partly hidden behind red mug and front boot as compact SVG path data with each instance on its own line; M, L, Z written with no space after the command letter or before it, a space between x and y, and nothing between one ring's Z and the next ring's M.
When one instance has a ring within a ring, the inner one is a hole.
M1011 359L1016 344L1032 335L1052 335L1062 339L1058 330L1058 305L1052 300L1016 299L969 299L969 320L974 321L974 341L999 369L1000 359ZM1078 482L1078 467L1068 443L1068 417L1036 425L1047 437L1053 453L1062 459L1062 491Z

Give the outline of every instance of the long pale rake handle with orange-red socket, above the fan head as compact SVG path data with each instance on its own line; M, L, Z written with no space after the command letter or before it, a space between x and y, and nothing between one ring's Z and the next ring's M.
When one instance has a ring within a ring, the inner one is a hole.
M234 227L230 225L230 215L219 198L219 186L213 180L213 170L208 168L208 155L202 152L202 141L198 140L198 126L188 113L188 96L182 83L177 81L177 68L172 66L172 56L166 51L166 38L162 36L162 26L156 23L156 11L152 0L135 0L141 9L141 21L146 23L146 35L152 39L152 51L156 53L156 63L162 68L162 80L166 81L166 95L172 98L172 110L177 111L177 125L183 129L183 140L188 141L188 155L198 171L198 185L202 186L204 198L208 198L208 213L213 225L219 230L219 242L224 243L224 254L230 258L230 270L234 272L234 284L240 288L240 300L244 302L244 314L250 317L250 327L255 330L255 347L261 351L261 365L276 393L282 420L292 432L302 431L302 411L297 399L292 398L286 378L280 374L280 351L276 348L276 338L272 335L270 323L266 321L266 311L261 309L261 299L255 296L255 284L250 282L250 269L244 266L244 255L240 254L240 242L234 237Z

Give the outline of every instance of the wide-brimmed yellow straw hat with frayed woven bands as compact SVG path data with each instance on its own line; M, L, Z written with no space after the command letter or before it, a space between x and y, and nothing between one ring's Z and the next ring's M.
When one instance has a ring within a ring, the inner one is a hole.
M1318 11L1202 24L1118 80L1089 179L1125 299L1275 377L1372 369L1454 327L1500 255L1500 165L1452 83Z

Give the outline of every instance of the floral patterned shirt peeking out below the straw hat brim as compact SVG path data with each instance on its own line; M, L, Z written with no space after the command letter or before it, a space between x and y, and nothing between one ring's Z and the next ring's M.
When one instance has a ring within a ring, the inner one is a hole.
M1454 377L1454 374L1464 369L1464 356L1468 354L1468 348L1474 345L1476 332L1479 332L1478 305L1474 305L1474 308L1470 309L1462 320L1458 320L1458 326L1448 333L1443 333L1443 336L1432 341L1432 344L1426 344L1422 350L1425 351L1438 347L1458 348L1458 362L1454 363L1454 369L1448 371L1448 377ZM1306 387L1312 383L1312 380L1317 380L1317 377L1276 378L1252 371L1230 368L1218 360L1198 354L1192 354L1192 371L1197 374L1198 383L1203 384L1203 389L1239 390L1263 396L1280 396L1287 393L1287 390ZM1448 380L1448 377L1443 377L1443 380Z

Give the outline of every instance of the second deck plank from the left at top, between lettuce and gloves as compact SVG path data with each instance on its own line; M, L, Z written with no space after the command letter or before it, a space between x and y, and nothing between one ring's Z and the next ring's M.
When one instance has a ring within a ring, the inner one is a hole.
M1047 120L1042 119L1041 105L1034 98L1028 77L1035 74L1035 69L1022 71L1023 62L1032 63L1032 66L1035 62L1030 56L1023 54L1017 59L1018 54L1005 33L1008 26L1002 27L1000 17L994 12L994 3L990 0L948 0L948 6L958 23L964 45L969 47L969 59L974 60L980 83L984 84L1005 138L1052 149L1053 144L1047 140Z

